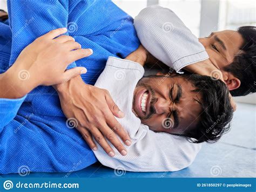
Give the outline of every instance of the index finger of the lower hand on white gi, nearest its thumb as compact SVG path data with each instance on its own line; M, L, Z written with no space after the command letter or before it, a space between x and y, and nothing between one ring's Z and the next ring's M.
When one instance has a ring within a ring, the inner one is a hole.
M107 125L112 128L114 133L116 133L125 143L125 145L131 145L131 139L129 134L124 130L121 124L113 117L113 115L106 116Z

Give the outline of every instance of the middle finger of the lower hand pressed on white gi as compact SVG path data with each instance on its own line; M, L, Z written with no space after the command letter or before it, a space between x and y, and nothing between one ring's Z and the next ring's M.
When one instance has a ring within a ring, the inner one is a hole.
M109 140L114 147L118 150L120 154L123 156L127 154L126 149L124 148L123 144L117 138L116 133L114 133L109 126L106 124L99 126L99 130L105 136L107 140Z

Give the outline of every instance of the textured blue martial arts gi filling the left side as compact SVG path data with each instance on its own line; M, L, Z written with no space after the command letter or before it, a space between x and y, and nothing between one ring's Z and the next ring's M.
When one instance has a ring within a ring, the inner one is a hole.
M133 19L111 1L8 1L9 22L0 23L0 72L14 63L26 45L61 27L93 55L69 67L85 66L82 76L94 84L107 57L126 57L139 40ZM50 68L49 68L50 70ZM76 129L66 126L58 95L39 86L21 99L0 99L0 173L73 172L95 163L96 157Z

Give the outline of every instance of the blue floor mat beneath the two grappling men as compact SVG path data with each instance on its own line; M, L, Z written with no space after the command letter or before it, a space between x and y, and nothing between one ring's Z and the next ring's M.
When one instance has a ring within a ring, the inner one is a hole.
M78 172L30 173L26 177L256 177L255 119L256 105L238 104L230 132L217 143L205 143L193 164L179 172L123 172L95 163Z

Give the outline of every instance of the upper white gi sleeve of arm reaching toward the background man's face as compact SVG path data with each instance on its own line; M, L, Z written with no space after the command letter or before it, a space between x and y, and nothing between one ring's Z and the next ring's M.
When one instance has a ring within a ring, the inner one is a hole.
M170 9L149 6L134 18L134 27L146 50L176 72L208 59L198 38Z

